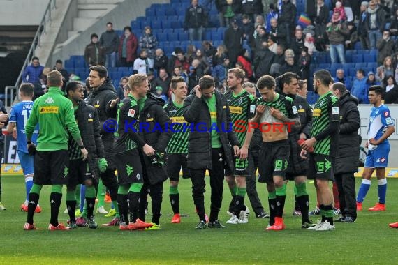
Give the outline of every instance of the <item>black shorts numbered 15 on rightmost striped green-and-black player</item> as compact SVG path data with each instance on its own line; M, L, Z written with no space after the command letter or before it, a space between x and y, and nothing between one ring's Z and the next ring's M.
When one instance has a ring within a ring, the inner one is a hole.
M334 158L320 153L309 153L308 179L334 181Z

